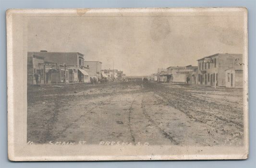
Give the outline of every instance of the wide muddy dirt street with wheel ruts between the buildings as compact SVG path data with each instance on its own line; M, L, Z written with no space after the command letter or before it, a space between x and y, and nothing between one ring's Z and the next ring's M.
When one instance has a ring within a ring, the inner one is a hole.
M242 145L242 89L154 82L28 87L35 144Z

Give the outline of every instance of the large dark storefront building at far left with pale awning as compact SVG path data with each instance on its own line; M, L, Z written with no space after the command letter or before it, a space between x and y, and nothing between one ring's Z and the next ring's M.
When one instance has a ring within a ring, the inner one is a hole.
M79 52L28 52L27 66L28 84L36 84L35 74L39 84L88 81L84 55Z

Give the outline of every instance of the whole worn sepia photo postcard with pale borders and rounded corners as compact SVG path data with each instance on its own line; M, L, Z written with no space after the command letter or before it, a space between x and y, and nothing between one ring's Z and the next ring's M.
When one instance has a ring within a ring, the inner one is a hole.
M10 160L248 157L246 8L6 18Z

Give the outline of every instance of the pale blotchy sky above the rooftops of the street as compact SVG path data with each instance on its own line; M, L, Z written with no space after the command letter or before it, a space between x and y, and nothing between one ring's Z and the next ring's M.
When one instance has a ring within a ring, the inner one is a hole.
M102 69L150 75L158 68L197 65L216 53L244 53L239 16L36 17L28 21L28 51L80 52Z

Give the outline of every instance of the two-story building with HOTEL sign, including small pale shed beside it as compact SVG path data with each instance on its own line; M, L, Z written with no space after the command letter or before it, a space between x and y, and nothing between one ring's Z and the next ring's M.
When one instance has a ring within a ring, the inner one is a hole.
M243 55L214 54L197 60L197 83L225 87L243 87ZM216 82L215 82L216 81Z

